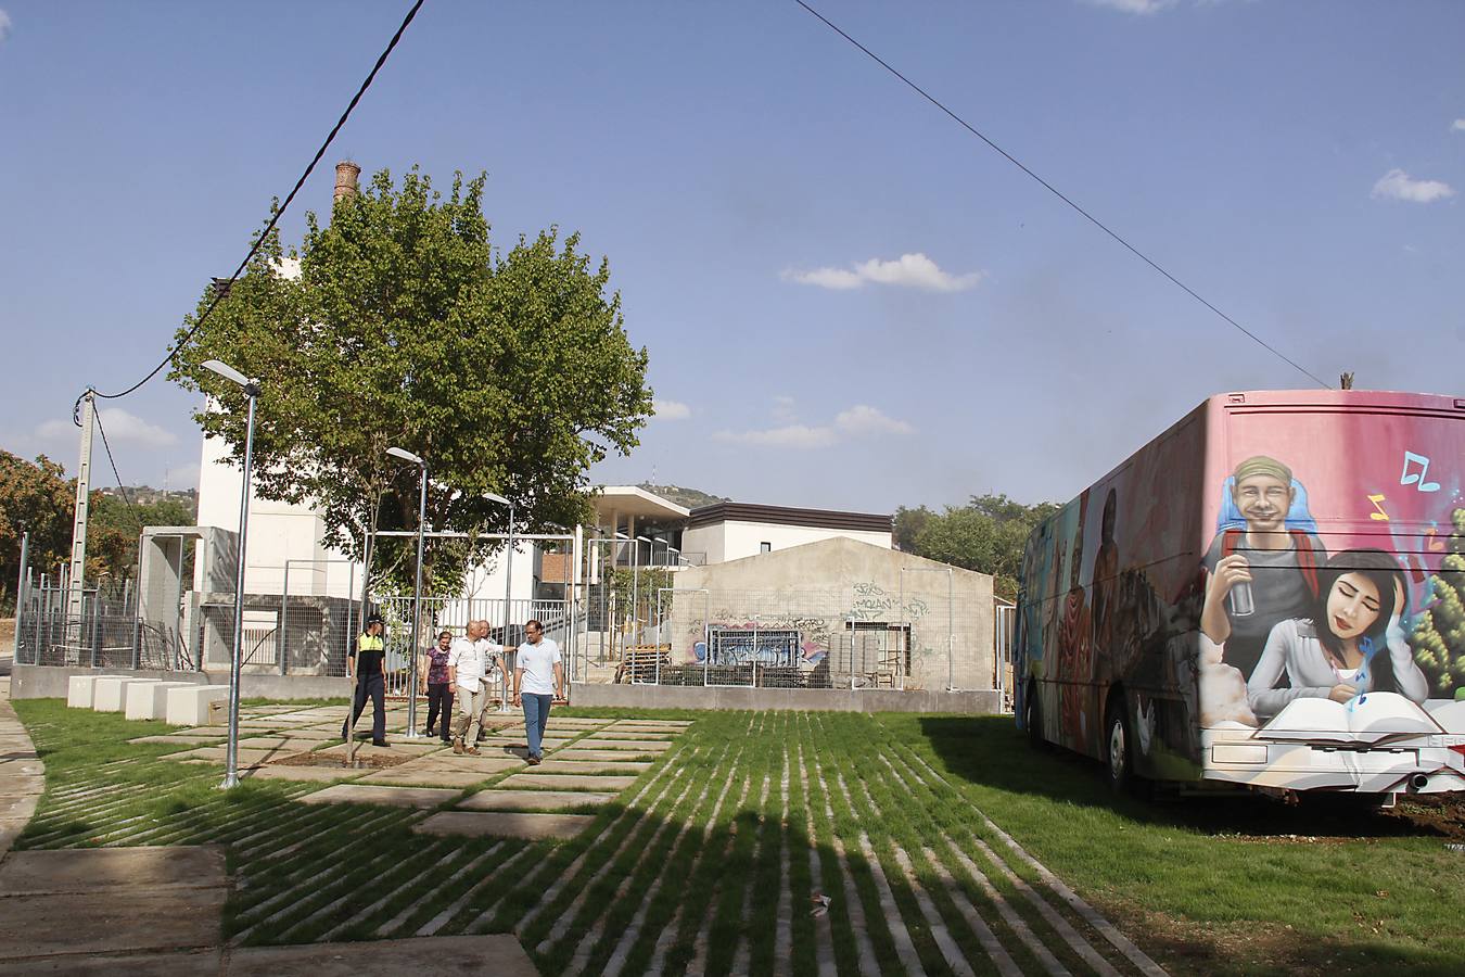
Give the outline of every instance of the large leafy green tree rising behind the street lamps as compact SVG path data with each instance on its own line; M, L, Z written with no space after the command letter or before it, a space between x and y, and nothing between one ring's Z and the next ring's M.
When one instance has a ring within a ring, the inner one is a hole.
M416 527L418 470L390 447L428 460L434 529L502 530L508 513L483 498L498 492L516 502L516 529L538 530L586 516L589 467L628 454L650 415L646 352L626 335L608 262L552 227L495 250L485 180L456 174L444 199L416 168L400 186L382 170L327 224L308 214L299 250L271 231L171 374L224 404L196 417L236 461L243 398L199 365L261 378L259 494L312 505L327 542L353 557L375 529ZM297 277L281 274L287 259ZM375 576L407 579L409 546L384 548ZM429 589L456 587L482 549L434 546Z

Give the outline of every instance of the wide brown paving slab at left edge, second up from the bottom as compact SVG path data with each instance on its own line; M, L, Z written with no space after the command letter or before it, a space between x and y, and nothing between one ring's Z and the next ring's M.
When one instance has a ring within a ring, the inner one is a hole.
M21 852L12 857L15 854ZM227 895L227 888L215 886L4 896L0 898L0 961L218 946L218 921Z

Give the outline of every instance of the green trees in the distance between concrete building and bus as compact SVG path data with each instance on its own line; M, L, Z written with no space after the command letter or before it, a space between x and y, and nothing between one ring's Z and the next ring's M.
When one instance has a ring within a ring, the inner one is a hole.
M1027 535L1058 508L1055 502L1024 505L1001 494L973 495L942 513L902 507L895 513L895 539L919 557L990 574L998 596L1012 599Z

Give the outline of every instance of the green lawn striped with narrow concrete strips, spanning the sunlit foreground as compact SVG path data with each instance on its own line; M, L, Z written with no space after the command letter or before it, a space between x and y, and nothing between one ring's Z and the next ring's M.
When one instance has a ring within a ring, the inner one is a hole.
M527 842L297 801L319 784L224 794L126 743L160 722L15 707L47 765L16 847L227 842L245 943L514 932L546 974L1465 970L1455 814L1116 804L1002 718L655 713L694 725L579 836ZM587 713L652 715L554 715Z

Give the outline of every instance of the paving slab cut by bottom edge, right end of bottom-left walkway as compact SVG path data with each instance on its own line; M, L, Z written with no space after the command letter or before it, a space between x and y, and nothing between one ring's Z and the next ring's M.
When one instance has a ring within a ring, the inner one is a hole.
M423 936L360 943L309 943L305 946L245 946L231 949L224 965L229 977L387 977L396 974L464 974L488 971L495 977L538 977L513 933L489 936Z

